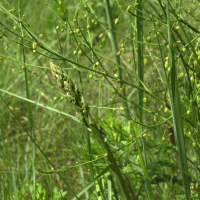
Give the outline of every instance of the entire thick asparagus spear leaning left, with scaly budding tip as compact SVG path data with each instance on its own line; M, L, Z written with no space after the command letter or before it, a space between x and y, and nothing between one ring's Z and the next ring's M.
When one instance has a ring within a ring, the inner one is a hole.
M77 85L73 83L69 75L60 67L50 62L50 68L53 76L57 80L57 85L64 92L66 92L66 98L74 104L77 117L83 123L83 125L85 125L87 129L94 134L95 138L97 139L102 151L104 152L105 162L109 165L110 170L120 187L124 199L129 200L129 191L127 190L121 171L108 143L105 142L106 134L96 125L95 121L93 120L90 114L89 105L86 104L81 91Z

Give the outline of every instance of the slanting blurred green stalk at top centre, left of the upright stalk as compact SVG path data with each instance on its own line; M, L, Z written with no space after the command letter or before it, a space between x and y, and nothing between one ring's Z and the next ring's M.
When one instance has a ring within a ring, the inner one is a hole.
M106 7L106 15L107 15L107 20L108 20L108 26L110 28L110 40L111 40L112 52L113 52L113 55L115 57L115 62L117 63L118 66L120 66L121 64L120 64L120 57L118 55L117 40L116 40L115 32L113 31L114 25L113 25L110 1L106 0L105 4L106 4L105 7ZM119 79L122 79L122 70L118 66L117 66L117 76L119 77ZM120 88L120 86L122 86L122 83L119 83L118 89ZM125 93L123 95L125 95ZM123 101L122 103L123 103L123 107L124 107L124 111L125 111L126 116L130 117L127 101Z

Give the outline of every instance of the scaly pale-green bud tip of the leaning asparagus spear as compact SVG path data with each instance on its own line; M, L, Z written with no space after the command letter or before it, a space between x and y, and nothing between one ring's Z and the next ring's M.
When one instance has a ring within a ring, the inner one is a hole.
M89 113L89 106L85 103L84 97L79 88L72 82L69 75L60 67L50 62L50 68L53 76L57 80L58 86L66 92L67 99L75 105L77 109L77 118L82 121Z

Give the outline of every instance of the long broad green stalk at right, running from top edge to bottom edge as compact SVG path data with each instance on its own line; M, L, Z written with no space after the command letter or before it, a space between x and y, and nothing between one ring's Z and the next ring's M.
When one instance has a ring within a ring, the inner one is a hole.
M181 106L180 106L180 97L178 91L178 81L177 81L177 72L174 59L174 52L172 50L173 41L172 41L172 30L171 30L171 21L170 21L170 11L169 11L169 2L166 0L167 5L167 24L168 24L168 40L169 40L169 64L171 67L171 87L172 87L172 117L173 117L173 126L176 144L179 150L180 164L183 177L183 185L185 189L186 199L190 199L190 181L187 168L187 157L185 149L185 140L184 140L184 131L183 131L183 122L181 115ZM184 173L186 172L186 173Z

